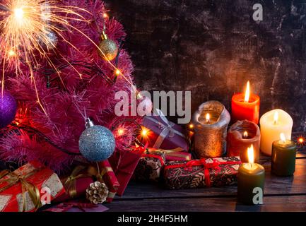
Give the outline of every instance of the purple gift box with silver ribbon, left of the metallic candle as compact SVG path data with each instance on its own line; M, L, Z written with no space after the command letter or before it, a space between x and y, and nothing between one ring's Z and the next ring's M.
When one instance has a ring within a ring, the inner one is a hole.
M143 136L144 143L148 142L150 148L188 150L188 143L182 126L168 121L163 112L157 109L158 116L146 116L142 125L148 129Z

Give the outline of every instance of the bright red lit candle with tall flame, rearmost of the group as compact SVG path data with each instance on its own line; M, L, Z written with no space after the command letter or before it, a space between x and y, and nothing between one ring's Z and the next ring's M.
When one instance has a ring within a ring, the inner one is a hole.
M235 123L247 119L258 124L259 102L259 96L251 93L248 81L245 93L237 93L232 97L232 121Z

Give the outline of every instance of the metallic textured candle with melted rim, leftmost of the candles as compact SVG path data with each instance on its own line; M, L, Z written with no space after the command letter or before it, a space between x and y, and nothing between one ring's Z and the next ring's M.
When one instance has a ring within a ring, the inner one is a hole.
M210 120L206 119L210 115ZM204 102L194 113L194 151L198 157L220 157L226 152L230 114L218 101Z

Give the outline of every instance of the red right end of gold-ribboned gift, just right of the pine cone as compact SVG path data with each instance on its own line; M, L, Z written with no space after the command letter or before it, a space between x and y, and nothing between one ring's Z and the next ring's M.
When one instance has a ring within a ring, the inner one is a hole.
M99 162L99 167L101 167L102 170L105 170L105 173L102 176L102 180L105 182L108 188L106 201L107 203L111 203L114 199L114 196L117 194L120 184L108 160Z

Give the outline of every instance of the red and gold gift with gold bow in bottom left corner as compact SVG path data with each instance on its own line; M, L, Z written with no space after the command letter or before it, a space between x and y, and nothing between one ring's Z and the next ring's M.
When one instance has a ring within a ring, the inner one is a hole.
M33 212L65 192L57 174L40 162L29 162L13 172L1 174L0 211L3 212ZM48 190L50 200L46 198Z

